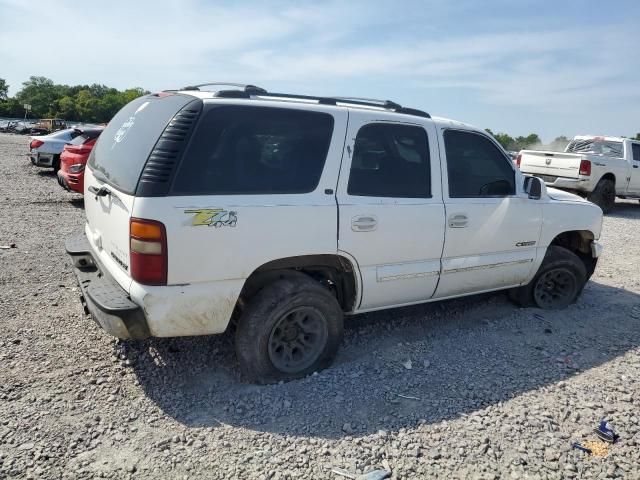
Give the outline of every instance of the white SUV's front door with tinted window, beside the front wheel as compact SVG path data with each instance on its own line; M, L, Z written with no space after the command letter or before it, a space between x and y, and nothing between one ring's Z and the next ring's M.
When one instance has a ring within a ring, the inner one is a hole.
M513 163L482 133L441 133L446 241L436 297L519 285L535 263L540 202L516 185Z

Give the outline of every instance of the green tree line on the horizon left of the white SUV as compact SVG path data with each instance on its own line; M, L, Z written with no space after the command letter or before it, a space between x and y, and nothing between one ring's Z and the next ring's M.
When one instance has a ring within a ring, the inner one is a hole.
M106 85L59 85L46 77L29 77L14 97L0 78L0 117L21 118L24 105L31 105L28 118L63 118L88 123L106 123L131 100L149 93L142 88L120 91Z

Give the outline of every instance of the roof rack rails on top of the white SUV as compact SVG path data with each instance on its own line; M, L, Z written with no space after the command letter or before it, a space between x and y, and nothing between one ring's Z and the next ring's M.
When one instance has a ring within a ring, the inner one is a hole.
M165 90L165 91L202 91L201 87L209 86L231 86L236 87L233 90L216 90L213 93L215 98L243 98L243 99L256 99L256 98L268 98L273 100L287 100L287 101L316 101L320 105L345 105L356 107L376 107L383 110L402 113L404 115L414 115L417 117L431 118L427 112L418 110L415 108L403 107L402 105L393 102L391 100L377 100L372 98L359 98L359 97L320 97L310 95L297 95L291 93L275 93L269 92L264 88L257 87L255 85L244 85L240 83L227 83L227 82L210 82L201 83L199 85L191 85L184 87L181 90ZM205 90L207 91L207 90Z

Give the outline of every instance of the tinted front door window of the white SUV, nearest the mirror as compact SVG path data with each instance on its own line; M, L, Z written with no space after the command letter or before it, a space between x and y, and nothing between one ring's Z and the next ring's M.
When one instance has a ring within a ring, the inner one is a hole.
M484 135L448 130L444 134L449 196L515 195L515 173L505 155Z

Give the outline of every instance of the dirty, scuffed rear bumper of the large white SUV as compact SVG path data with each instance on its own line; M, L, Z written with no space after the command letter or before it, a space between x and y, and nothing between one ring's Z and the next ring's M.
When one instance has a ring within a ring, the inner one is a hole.
M80 286L80 301L100 327L122 339L150 336L144 312L91 254L84 234L65 242Z

